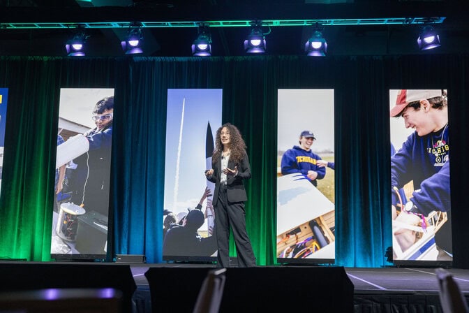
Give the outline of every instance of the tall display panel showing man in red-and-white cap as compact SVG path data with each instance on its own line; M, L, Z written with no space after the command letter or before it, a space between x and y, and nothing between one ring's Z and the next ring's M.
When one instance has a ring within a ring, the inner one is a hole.
M452 265L446 89L389 91L393 262Z

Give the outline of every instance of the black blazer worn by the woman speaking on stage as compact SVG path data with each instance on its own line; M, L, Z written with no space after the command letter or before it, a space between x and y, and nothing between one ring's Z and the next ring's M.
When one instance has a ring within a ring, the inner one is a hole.
M207 180L215 183L213 205L216 205L218 201L218 192L220 191L220 178L221 174L223 173L223 170L221 168L221 158L218 159L216 164L212 163L211 166L214 169L214 173L211 175L211 177L207 177ZM248 200L248 196L246 196L246 189L244 189L243 180L251 178L251 166L249 165L248 154L244 154L243 159L239 163L234 163L230 158L228 160L228 168L232 170L234 169L234 166L237 166L238 174L236 176L227 175L226 177L226 192L228 196L228 201L246 201Z

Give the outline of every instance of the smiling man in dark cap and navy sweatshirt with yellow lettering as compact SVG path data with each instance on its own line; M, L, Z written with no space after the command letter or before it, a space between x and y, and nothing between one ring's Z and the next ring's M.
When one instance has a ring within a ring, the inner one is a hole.
M317 180L322 180L326 175L326 168L320 166L318 161L321 159L318 154L311 150L311 145L315 140L311 131L301 131L299 134L299 145L288 149L283 153L281 161L282 175L292 173L303 174L315 187L318 186Z

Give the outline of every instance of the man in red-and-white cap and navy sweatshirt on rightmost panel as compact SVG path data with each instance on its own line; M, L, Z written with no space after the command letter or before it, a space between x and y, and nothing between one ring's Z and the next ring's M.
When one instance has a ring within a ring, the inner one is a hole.
M443 89L400 90L391 117L403 117L405 128L414 129L391 157L392 210L396 221L417 225L433 211L447 212L448 221L435 233L438 260L452 260L449 129L447 92ZM413 182L414 191L399 215L396 190ZM415 231L394 233L403 251L416 240Z

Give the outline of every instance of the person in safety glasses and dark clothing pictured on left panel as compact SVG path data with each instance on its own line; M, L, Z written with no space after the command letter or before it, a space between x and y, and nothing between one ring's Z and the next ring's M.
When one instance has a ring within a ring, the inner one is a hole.
M87 212L95 211L105 217L110 196L113 113L114 96L107 96L94 105L91 119L96 127L83 134L89 141L89 151L73 159L77 168L70 181L71 201Z

